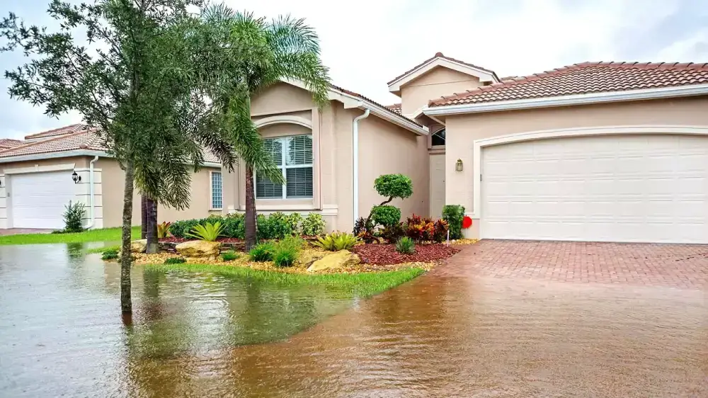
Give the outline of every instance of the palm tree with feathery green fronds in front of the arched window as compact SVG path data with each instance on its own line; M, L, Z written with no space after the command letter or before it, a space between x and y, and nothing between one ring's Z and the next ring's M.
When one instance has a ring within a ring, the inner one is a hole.
M256 243L256 195L253 171L273 183L285 183L282 172L265 152L251 121L251 97L284 79L301 81L319 106L328 103L328 69L320 60L319 38L304 19L281 16L272 21L233 11L224 4L205 9L207 26L223 40L232 74L219 81L217 101L234 115L234 147L246 167L246 249ZM257 139L258 144L253 140Z

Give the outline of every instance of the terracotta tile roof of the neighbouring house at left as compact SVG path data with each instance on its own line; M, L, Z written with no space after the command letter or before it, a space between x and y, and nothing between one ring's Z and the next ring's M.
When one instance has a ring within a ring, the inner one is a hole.
M76 128L76 125L61 127L55 130L67 131L71 130L72 128ZM87 129L86 126L82 126L81 130L76 132L69 132L68 134L64 132L63 135L55 134L55 137L48 137L50 138L35 142L17 141L19 145L15 147L8 147L7 149L0 148L0 159L6 157L17 157L34 154L53 154L57 152L68 152L78 150L98 152L105 151L105 147L102 144L101 137L96 134L96 129ZM210 163L221 163L219 158L217 158L215 154L212 154L212 152L210 151L204 152L204 160Z

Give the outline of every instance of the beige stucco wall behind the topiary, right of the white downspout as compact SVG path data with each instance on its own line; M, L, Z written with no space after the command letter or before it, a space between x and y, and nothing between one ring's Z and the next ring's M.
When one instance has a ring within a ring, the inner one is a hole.
M402 217L428 216L430 178L428 137L418 136L379 118L369 117L359 127L359 215L387 198L379 195L374 180L382 174L404 174L413 180L413 195L394 199L391 205L401 208Z

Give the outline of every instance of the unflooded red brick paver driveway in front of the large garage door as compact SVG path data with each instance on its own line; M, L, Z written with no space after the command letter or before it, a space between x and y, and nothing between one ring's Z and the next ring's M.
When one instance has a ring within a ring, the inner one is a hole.
M440 273L708 289L708 245L483 240Z

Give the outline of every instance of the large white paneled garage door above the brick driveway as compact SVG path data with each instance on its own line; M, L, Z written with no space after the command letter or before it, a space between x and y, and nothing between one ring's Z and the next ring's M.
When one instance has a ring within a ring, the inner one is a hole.
M708 138L572 137L482 149L481 237L708 243Z

